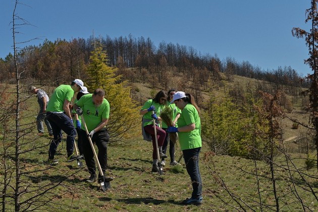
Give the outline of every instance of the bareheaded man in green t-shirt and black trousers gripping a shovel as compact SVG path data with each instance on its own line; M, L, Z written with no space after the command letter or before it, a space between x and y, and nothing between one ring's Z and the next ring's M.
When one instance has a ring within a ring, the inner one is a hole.
M98 148L98 161L105 176L107 168L107 145L110 140L107 128L105 127L110 117L110 103L104 98L105 91L101 88L97 88L93 94L83 95L75 104L74 110L80 116L83 115L86 127L89 134L86 134L85 127L81 125L81 138L82 146L85 157L86 166L90 177L86 180L89 183L96 180L96 167L94 160L94 153L90 146L89 136L93 143L96 143ZM82 120L83 121L83 120ZM106 177L106 181L113 180L112 177ZM98 182L102 181L102 177L99 173Z

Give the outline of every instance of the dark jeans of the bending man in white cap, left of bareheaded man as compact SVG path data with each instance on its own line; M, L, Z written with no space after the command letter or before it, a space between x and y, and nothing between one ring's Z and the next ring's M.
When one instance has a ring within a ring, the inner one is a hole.
M72 120L66 116L65 113L54 114L46 112L46 119L49 121L54 139L51 141L48 150L48 158L54 159L55 152L59 143L62 141L62 130L67 134L66 137L66 151L70 156L74 150L74 140L76 137L76 130L73 126Z

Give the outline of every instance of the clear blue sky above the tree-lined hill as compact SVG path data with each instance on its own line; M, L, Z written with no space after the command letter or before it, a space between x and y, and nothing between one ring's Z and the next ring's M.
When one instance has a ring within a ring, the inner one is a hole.
M310 0L20 0L17 13L32 26L19 29L18 41L34 37L95 36L149 37L191 45L201 54L217 54L249 61L263 70L291 66L300 75L311 73L303 63L308 48L291 34L293 27L308 30L305 10ZM14 1L0 1L0 58L12 52ZM43 40L28 44L38 45ZM22 45L23 46L23 45Z

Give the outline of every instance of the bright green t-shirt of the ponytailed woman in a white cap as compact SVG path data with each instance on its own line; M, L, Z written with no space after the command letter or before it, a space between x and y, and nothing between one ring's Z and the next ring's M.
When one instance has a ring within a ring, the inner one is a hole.
M195 124L195 129L190 132L178 132L181 150L201 147L201 121L197 110L188 103L181 112L178 119L179 127Z

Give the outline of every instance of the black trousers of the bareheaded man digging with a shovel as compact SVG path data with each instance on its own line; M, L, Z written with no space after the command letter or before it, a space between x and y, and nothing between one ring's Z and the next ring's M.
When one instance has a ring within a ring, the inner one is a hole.
M90 146L87 134L84 130L81 130L83 152L85 157L86 166L90 174L96 173L96 166L94 160L94 152ZM103 128L94 133L92 137L92 142L96 143L98 148L97 158L103 173L105 173L107 168L107 143L110 140L110 135L107 132L106 128Z

